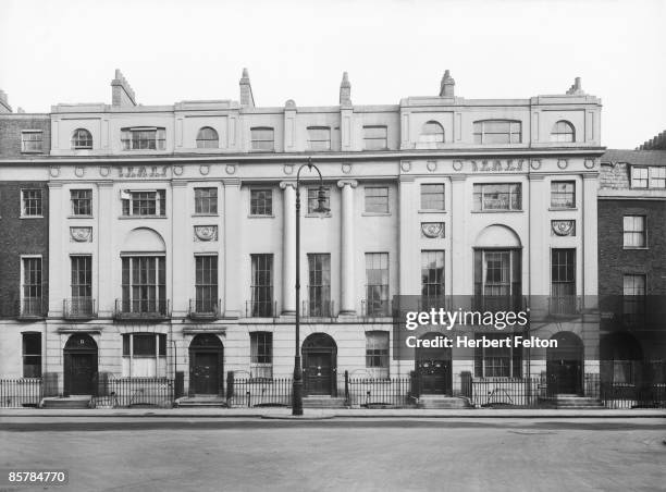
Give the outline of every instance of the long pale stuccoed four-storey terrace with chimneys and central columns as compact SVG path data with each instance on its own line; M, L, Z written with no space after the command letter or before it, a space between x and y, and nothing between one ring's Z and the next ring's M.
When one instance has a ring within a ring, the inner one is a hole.
M584 374L599 372L601 101L579 79L560 95L471 100L446 72L437 95L356 106L345 74L337 106L308 108L256 106L247 72L238 101L140 106L120 71L111 85L111 104L40 116L48 155L0 159L7 186L27 174L48 184L40 364L54 394L181 374L186 393L218 395L230 372L288 377L297 309L309 395L334 396L344 372L416 371L446 395L464 391L464 374L543 373L582 393ZM0 115L8 148L30 130L10 123L21 118ZM304 174L297 306L293 210L308 158L330 213L314 213L317 181ZM529 334L559 349L395 357L395 295L529 306ZM26 376L25 325L7 323L0 373Z

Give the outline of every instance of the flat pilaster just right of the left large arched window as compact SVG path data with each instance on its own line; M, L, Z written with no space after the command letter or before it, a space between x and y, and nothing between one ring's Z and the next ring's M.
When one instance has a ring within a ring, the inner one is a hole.
M187 223L187 182L173 181L171 184L171 307L174 317L187 315L192 297L192 276L188 266L192 265L192 225ZM189 258L188 258L189 257Z

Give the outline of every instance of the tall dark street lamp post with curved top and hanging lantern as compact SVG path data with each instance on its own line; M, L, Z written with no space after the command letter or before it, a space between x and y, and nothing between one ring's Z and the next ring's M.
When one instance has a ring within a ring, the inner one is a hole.
M323 188L323 177L319 168L312 163L312 158L301 164L296 173L296 346L294 354L294 386L292 390L292 415L303 415L303 368L300 367L300 171L317 171L319 174L319 190L317 193L317 208L314 213L326 213L329 209L324 202L326 199Z

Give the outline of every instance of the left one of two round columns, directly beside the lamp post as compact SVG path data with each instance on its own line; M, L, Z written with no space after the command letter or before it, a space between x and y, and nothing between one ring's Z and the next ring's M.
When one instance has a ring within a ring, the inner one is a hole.
M283 181L282 313L296 315L296 182ZM307 206L307 199L306 199Z

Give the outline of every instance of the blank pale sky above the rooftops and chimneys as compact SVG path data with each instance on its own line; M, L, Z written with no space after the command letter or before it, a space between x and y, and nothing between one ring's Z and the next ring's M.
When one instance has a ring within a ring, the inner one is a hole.
M143 104L238 99L355 104L437 95L602 99L602 145L666 130L666 0L0 0L0 89L14 108L111 102L121 69Z

